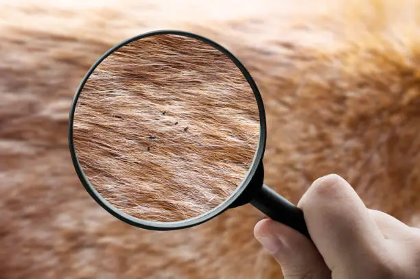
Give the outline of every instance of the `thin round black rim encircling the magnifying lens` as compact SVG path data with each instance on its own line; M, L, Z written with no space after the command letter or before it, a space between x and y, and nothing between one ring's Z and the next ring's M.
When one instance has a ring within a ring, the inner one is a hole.
M248 84L250 84L250 87L253 90L253 93L255 95L255 99L257 100L257 105L259 109L259 122L260 122L260 132L259 132L259 143L257 150L255 151L255 156L253 159L253 162L251 164L251 167L248 171L248 174L246 175L246 178L242 181L240 186L237 187L237 189L232 193L232 195L226 199L225 202L222 202L219 206L213 208L209 212L205 213L204 215L200 215L198 217L194 217L191 219L186 219L182 221L174 221L174 222L159 222L159 221L145 221L142 219L138 219L135 217L132 217L121 210L118 210L117 208L114 208L111 206L106 200L95 190L95 187L89 182L89 180L86 178L86 175L84 175L84 172L82 171L82 167L80 166L80 163L78 161L75 147L73 143L73 119L75 114L75 108L78 101L78 98L80 96L80 93L82 92L82 89L84 87L84 84L89 79L91 73L95 71L96 67L105 59L107 58L113 51L119 49L120 47L123 47L124 45L127 45L128 43L131 43L135 40L140 40L141 38L146 38L149 36L156 36L156 35L162 35L162 34L172 34L172 35L178 35L178 36L187 36L189 38L195 38L198 40L202 40L203 42L215 47L215 49L218 49L219 51L222 51L226 56L228 56L235 65L240 69L244 77L246 78L246 81ZM148 230L179 230L183 228L189 228L191 226L197 226L200 223L203 223L205 221L209 221L210 219L213 219L214 217L220 215L220 213L223 213L224 210L228 209L235 200L240 197L241 193L246 189L246 186L250 183L250 180L255 175L258 166L263 160L264 157L264 151L266 149L266 112L264 110L264 104L261 99L261 95L259 93L259 90L257 88L257 84L255 84L253 77L251 77L250 73L246 70L245 66L238 60L230 51L219 45L218 43L215 43L213 40L210 40L209 38L205 38L203 36L193 34L190 32L184 32L184 31L178 31L178 30L159 30L154 32L148 32L145 34L141 34L135 37L132 37L128 40L124 40L123 42L119 43L118 45L115 45L106 53L104 53L103 56L101 56L93 66L91 66L91 69L89 69L88 73L84 76L80 86L78 87L78 90L75 93L75 96L73 98L73 102L71 104L71 110L69 114L69 149L71 154L71 160L73 161L73 165L75 167L75 171L78 175L78 178L80 179L80 182L82 182L82 185L84 186L84 189L95 199L95 202L100 204L102 208L104 208L108 213L113 215L114 217L117 217L121 221L124 221L126 223L129 223L132 226L136 226L139 228L144 228Z

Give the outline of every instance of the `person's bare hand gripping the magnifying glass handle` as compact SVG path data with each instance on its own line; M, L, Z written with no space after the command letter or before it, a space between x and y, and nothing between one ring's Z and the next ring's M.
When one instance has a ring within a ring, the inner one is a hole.
M318 178L298 206L313 243L270 219L254 228L285 279L420 278L420 229L366 208L340 176Z

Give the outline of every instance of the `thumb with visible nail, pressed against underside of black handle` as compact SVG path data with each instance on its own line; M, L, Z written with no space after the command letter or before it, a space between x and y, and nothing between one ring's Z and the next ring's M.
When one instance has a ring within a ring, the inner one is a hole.
M255 225L254 236L280 264L285 279L331 278L314 243L296 230L264 219Z

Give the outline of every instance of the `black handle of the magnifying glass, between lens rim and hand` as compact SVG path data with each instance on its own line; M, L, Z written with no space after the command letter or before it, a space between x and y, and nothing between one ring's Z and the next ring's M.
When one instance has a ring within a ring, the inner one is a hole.
M278 193L270 189L265 184L257 193L254 194L250 204L261 210L262 213L271 219L294 228L301 234L311 239L305 219L303 218L303 211Z

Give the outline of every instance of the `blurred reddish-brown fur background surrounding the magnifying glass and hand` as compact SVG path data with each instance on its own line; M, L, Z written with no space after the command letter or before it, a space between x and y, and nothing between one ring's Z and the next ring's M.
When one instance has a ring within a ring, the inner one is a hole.
M104 51L183 29L230 49L266 106L266 184L297 202L338 173L420 225L420 3L0 1L0 277L280 278L251 206L187 230L128 226L73 171L73 94Z

